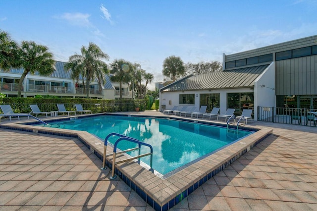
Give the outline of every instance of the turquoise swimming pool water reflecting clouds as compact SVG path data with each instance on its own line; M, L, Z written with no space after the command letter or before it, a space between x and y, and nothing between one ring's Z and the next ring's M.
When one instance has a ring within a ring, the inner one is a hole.
M91 116L50 124L87 131L102 140L109 133L116 132L148 143L153 147L153 168L163 175L252 133L244 130L237 133L224 127L171 119L118 115ZM114 144L117 138L110 138L108 143ZM127 141L118 144L120 150L134 147L136 144ZM149 148L143 147L141 153L147 152L150 152ZM138 151L128 154L137 156ZM141 158L141 161L149 165L150 156Z

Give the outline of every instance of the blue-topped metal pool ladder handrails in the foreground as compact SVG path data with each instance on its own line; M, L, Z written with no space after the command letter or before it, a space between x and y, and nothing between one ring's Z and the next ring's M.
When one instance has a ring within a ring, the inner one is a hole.
M139 158L142 158L142 157L145 157L145 156L151 156L151 161L150 161L150 167L152 169L152 163L153 163L153 147L149 144L146 144L146 143L143 143L143 142L140 142L138 139L135 139L135 138L131 138L131 137L128 137L128 136L125 136L125 135L122 135L122 134L119 134L119 133L110 133L106 136L105 138L105 146L104 146L104 160L103 160L103 167L102 167L102 170L106 169L106 157L109 157L111 156L111 154L108 154L106 155L106 148L107 148L107 142L108 142L108 139L111 137L111 136L118 136L120 138L118 138L115 143L114 143L114 146L113 146L113 158L112 158L112 176L110 176L110 179L115 179L116 178L116 175L114 175L114 167L115 167L115 164L119 164L119 163L122 163L122 162L126 162L126 161L130 161L130 160L133 160L133 159L137 159ZM127 149L127 150L123 150L123 151L120 151L120 152L117 152L117 145L120 141L129 141L129 142L133 142L133 143L136 143L139 145L139 147L135 147L135 148L132 148L132 149ZM146 153L146 154L143 154L141 155L141 145L144 145L144 146L147 146L150 148L150 153ZM135 157L132 157L132 158L126 158L126 159L123 159L123 160L120 160L120 161L117 161L115 162L115 157L117 154L122 154L122 153L126 153L126 152L131 152L131 151L134 151L134 150L139 150L139 155L138 156L135 156Z

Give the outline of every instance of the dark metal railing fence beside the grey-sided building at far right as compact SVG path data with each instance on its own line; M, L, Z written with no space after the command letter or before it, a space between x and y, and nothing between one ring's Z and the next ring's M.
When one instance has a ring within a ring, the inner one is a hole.
M317 109L258 106L258 121L316 126Z

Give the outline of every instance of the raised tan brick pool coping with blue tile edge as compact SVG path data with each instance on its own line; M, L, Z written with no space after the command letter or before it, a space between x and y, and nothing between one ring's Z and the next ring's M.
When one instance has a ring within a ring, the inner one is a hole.
M104 114L142 116L137 114L122 113L101 113L92 115ZM83 115L83 117L87 116L91 115ZM80 118L80 116L67 116L58 119L76 119L78 117ZM186 120L194 123L210 122L205 120L187 119L171 116L158 117L147 115L142 117L169 118L177 120ZM55 118L53 120L55 120ZM26 122L35 121L32 119L23 121L23 123ZM223 124L218 124L214 122L211 123L223 126ZM75 137L78 138L81 142L83 142L88 147L88 149L94 152L94 154L98 158L103 160L104 142L86 131L40 127L14 122L2 123L0 124L0 127L6 129L28 131L33 133ZM249 126L247 128L250 129ZM264 140L265 137L272 133L272 129L270 128L258 128L257 130L258 131L256 131L253 134L250 134L244 139L240 139L232 145L227 146L210 156L202 158L201 160L198 160L197 162L179 170L178 172L174 173L173 175L170 175L167 178L160 178L159 176L143 168L134 161L116 164L115 173L155 210L165 211L178 204L182 199L184 199L198 187L203 185L208 179L210 179L212 176L214 176L216 173L221 171L226 166L230 165L230 163L232 163L237 158L240 158L243 154L251 150L259 142ZM112 147L107 146L106 151L106 154L112 154L113 149ZM123 157L124 156L116 158L116 160L122 159ZM112 158L106 158L106 165L111 169Z

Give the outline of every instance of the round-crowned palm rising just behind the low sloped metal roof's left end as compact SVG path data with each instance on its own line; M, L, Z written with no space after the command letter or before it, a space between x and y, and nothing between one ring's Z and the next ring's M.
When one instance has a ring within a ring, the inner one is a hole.
M174 82L185 73L184 62L179 56L171 55L163 61L162 74Z

